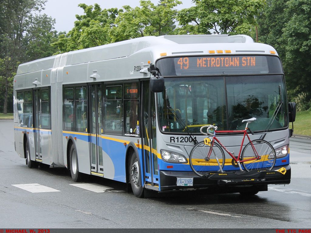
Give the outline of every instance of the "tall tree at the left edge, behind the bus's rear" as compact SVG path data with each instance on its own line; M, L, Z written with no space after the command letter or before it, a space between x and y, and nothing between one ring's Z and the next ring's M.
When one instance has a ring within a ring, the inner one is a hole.
M29 61L28 59L33 59L34 57L41 58L52 55L52 52L47 50L48 46L43 48L42 43L49 43L47 41L48 33L43 33L43 31L52 30L54 22L49 22L50 18L47 16L33 16L33 12L39 12L43 9L45 2L46 0L1 1L0 91L1 96L3 96L3 102L0 105L3 106L3 113L7 113L8 99L11 100L13 98L11 92L12 80L18 64ZM45 27L48 24L50 24L49 29ZM35 31L41 31L41 33L35 33ZM27 47L28 45L30 47ZM36 49L33 50L35 54L32 54L31 50L28 51L28 48ZM41 48L42 53L39 53L38 48Z

